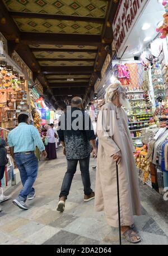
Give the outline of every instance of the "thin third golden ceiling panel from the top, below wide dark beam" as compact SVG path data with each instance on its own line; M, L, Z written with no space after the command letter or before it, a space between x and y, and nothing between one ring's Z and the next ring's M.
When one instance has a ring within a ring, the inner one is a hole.
M97 50L96 46L54 46L52 44L32 44L30 48L48 48L48 49L77 49L77 50Z

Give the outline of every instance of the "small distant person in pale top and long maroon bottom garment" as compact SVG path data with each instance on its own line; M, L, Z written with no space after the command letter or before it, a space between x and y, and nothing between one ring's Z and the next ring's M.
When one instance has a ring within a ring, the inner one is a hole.
M45 124L44 128L47 131L46 138L48 139L48 145L46 146L47 158L48 160L53 160L57 158L55 149L55 132L49 124Z

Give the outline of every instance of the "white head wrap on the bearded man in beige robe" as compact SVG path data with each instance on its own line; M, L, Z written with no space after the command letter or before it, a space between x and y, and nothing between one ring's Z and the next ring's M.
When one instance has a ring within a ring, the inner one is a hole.
M114 83L111 83L108 88L106 88L105 93L105 102L108 103L114 96L114 93L118 91L118 93L124 93L124 88L119 80L116 80Z

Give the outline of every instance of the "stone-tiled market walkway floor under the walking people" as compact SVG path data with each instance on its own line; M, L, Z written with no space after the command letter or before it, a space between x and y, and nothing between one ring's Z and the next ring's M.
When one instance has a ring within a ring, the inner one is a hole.
M91 159L90 167L94 165L95 160ZM28 202L29 210L20 210L11 200L1 204L0 244L118 244L118 230L108 226L104 213L94 212L94 201L83 203L79 170L65 212L56 211L65 170L66 160L59 149L57 160L40 163L36 197ZM94 170L91 170L91 181L94 188ZM168 202L151 188L140 187L143 215L135 217L135 223L143 239L141 244L168 244ZM21 185L11 188L12 198L17 196L20 188ZM123 244L128 243L123 239Z

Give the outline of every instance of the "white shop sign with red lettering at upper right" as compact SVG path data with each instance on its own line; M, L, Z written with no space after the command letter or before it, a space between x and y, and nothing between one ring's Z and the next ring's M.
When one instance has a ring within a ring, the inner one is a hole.
M120 0L113 21L116 52L122 48L146 3L147 0Z

